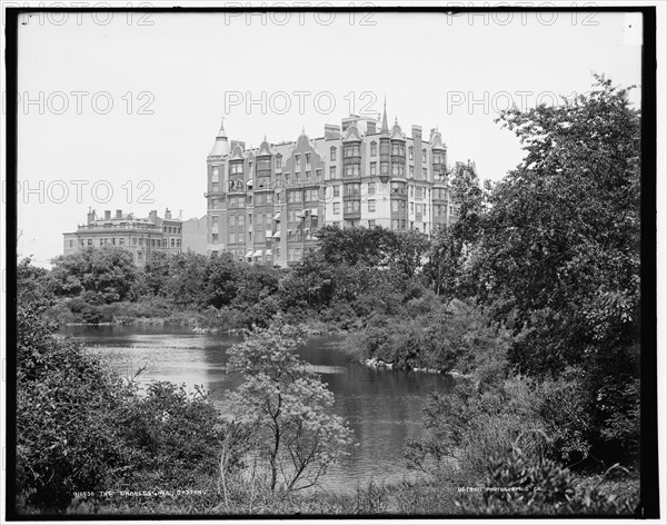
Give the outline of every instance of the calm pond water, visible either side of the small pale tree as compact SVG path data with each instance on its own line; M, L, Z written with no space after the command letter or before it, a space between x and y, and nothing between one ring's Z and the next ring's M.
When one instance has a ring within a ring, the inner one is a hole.
M225 349L240 340L220 334L195 334L180 327L70 326L63 333L107 358L119 373L143 382L202 385L213 400L240 379L226 373ZM301 357L321 375L336 396L336 412L345 417L359 446L342 465L330 470L323 486L349 491L368 481L396 482L410 477L401 456L404 443L422 434L421 408L434 390L454 384L436 374L375 370L337 350L338 337L312 337Z

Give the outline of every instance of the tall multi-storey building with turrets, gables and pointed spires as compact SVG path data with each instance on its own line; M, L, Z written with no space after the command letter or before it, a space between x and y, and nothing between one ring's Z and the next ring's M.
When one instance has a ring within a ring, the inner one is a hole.
M477 177L475 165L456 169ZM406 136L385 109L378 118L350 116L326 125L323 137L247 149L221 127L207 159L209 254L290 265L316 245L323 225L382 226L427 235L456 221L447 147L437 129Z

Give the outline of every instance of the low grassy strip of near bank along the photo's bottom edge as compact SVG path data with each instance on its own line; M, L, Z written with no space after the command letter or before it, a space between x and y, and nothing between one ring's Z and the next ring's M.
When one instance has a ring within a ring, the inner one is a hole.
M614 511L631 516L637 503L639 478L636 474L625 475L623 478L606 478L605 476L574 476L573 482L578 485L578 493L600 495L609 502L616 498L614 494L624 494L625 504L613 506ZM193 491L193 495L148 496L133 497L130 501L121 496L106 499L74 499L67 515L97 515L115 516L125 515L207 515L207 516L242 516L242 515L280 515L280 516L488 516L488 508L477 497L481 494L481 484L469 485L470 481L461 474L449 477L421 476L416 481L404 479L394 484L370 482L365 486L357 485L351 493L331 491L313 491L308 494L281 493L271 494L261 487L248 487L243 484L229 484L225 494L215 481L209 481L207 488ZM205 485L205 486L206 486ZM469 491L476 489L479 491ZM498 487L495 487L498 488ZM464 491L465 489L465 491ZM507 498L511 501L511 497ZM516 497L517 502L520 496ZM551 516L561 515L597 515L604 506L584 502L581 506L564 508L558 503L546 505L542 514ZM29 514L29 509L26 509ZM528 502L521 508L516 507L514 513L530 515L535 508ZM606 513L603 513L606 514Z

